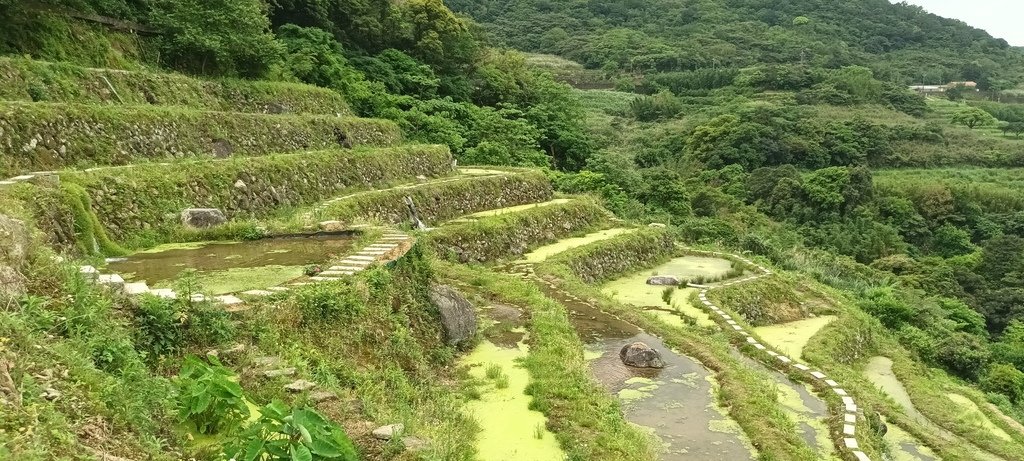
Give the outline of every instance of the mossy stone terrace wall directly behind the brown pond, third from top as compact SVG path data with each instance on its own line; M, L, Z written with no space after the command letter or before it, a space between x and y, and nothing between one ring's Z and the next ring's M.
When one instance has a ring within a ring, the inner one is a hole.
M92 233L106 252L113 247L102 236L128 247L188 237L179 216L185 208L219 208L231 219L266 217L353 188L450 174L451 162L449 150L439 145L322 151L66 173L57 187L24 185L16 194L33 206L53 243L84 242L82 250L92 253ZM83 200L82 191L88 212L73 213L78 202L71 199ZM247 228L234 230L249 237L262 232Z

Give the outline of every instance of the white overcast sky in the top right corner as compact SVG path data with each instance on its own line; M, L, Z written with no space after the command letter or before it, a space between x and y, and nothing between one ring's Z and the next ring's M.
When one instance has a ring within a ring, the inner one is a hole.
M906 0L940 16L953 17L1011 45L1024 46L1024 2L1021 0ZM899 3L893 1L893 3Z

